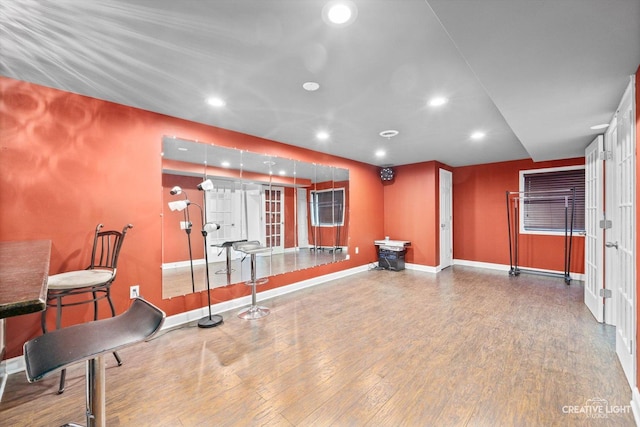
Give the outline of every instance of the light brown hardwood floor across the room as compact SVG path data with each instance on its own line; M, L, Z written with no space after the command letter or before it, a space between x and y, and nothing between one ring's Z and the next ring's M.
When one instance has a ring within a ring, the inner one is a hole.
M107 425L634 425L615 329L582 293L461 266L359 273L107 357ZM57 381L11 375L0 424L84 423L84 365Z

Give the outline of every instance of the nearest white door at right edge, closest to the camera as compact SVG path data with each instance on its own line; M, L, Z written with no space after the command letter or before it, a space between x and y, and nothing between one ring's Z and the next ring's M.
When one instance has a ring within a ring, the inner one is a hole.
M608 241L616 260L616 353L631 387L636 384L636 277L635 277L635 112L634 81L631 79L617 113L617 138L614 141L613 164L616 175L614 226L615 241Z

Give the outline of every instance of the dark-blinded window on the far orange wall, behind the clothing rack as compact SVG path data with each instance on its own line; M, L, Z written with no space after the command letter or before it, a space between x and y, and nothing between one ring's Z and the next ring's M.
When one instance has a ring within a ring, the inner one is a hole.
M584 168L526 171L522 173L522 177L522 191L527 195L521 205L522 226L525 231L564 233L565 228L571 230L573 188L573 231L585 231Z

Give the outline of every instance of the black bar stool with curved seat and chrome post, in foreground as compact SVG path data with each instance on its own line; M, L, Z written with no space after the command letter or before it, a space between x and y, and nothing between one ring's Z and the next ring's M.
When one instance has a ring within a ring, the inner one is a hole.
M103 356L149 340L160 330L164 319L162 310L136 298L129 309L118 316L58 329L34 338L24 344L27 380L35 382L74 363L86 361L87 426L105 426Z

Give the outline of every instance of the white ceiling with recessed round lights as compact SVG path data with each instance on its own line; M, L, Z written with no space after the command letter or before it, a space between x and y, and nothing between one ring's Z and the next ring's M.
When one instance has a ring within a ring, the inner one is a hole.
M327 1L3 0L0 74L375 165L462 166L584 155L640 64L639 0L352 0L344 28Z

